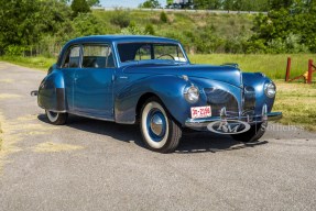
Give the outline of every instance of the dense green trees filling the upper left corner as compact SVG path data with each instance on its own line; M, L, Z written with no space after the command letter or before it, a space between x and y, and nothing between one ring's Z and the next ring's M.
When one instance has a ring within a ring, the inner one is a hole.
M78 24L83 20L78 16L99 3L99 0L0 0L0 55L25 51L32 54L35 45L48 48L62 45L72 33L80 36Z

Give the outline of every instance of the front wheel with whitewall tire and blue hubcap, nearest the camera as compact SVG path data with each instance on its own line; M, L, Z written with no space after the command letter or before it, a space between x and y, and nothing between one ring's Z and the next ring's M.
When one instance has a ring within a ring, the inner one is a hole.
M181 126L157 98L150 98L142 107L140 127L146 147L160 153L174 152L182 136Z

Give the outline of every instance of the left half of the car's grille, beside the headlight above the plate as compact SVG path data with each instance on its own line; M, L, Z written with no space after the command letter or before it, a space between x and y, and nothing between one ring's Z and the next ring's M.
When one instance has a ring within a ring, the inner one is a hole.
M211 115L219 116L224 107L226 107L227 115L239 115L238 102L231 93L216 88L205 88L204 92L207 96L207 103L210 104Z

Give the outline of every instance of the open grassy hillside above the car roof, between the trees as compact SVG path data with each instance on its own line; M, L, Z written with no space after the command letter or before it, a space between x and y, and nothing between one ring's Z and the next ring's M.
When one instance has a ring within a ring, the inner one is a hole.
M211 26L213 33L221 37L235 37L241 34L251 34L253 26L253 14L216 14L198 12L166 12L168 21L160 21L160 11L94 11L95 16L100 20L109 34L119 33L118 25L110 21L118 16L128 16L137 26L144 27L152 24L156 35L164 36L171 32L199 32L205 26Z

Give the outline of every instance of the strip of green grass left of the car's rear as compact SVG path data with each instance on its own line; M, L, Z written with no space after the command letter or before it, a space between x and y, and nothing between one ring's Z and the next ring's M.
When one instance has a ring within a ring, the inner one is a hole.
M47 70L57 58L47 58L43 56L39 57L22 57L22 56L1 56L0 60L21 65L24 67L36 68L41 70Z

